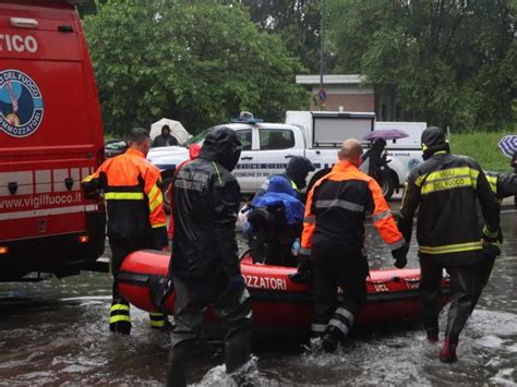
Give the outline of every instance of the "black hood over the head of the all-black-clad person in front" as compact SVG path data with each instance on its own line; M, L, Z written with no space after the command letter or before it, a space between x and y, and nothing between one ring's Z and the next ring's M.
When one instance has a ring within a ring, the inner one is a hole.
M241 156L242 144L236 132L228 126L214 126L203 142L200 158L217 161L229 172L236 168Z

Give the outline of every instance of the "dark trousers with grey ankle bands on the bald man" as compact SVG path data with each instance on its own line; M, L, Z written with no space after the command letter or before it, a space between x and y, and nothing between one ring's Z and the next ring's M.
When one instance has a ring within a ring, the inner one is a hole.
M312 246L314 323L312 336L344 340L366 302L366 257L341 246ZM337 287L342 290L338 298Z

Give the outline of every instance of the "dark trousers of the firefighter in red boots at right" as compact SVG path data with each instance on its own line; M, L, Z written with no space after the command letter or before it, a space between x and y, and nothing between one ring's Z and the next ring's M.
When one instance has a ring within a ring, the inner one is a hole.
M444 268L450 276L450 307L445 336L452 343L457 343L459 334L476 305L479 263L466 266L446 266L438 259L420 258L420 313L428 331L438 329L438 298Z

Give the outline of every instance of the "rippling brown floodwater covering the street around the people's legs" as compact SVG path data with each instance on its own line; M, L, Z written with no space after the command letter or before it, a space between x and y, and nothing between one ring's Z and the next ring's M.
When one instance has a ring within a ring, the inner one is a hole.
M517 385L517 214L503 214L504 253L478 309L464 330L459 361L444 365L438 346L418 326L356 332L336 354L308 350L298 338L262 337L248 364L254 385ZM372 267L392 257L368 228ZM416 243L410 267L418 265ZM86 273L39 283L0 283L0 385L159 385L169 348L144 312L132 309L130 337L107 326L111 280ZM442 328L444 319L442 318ZM192 363L192 382L236 385L221 366L219 341L203 341Z

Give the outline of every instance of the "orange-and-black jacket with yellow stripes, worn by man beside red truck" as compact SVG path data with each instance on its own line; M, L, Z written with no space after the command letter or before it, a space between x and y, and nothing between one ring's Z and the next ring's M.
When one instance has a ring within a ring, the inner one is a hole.
M106 160L83 180L88 192L103 190L108 206L108 237L140 238L166 234L159 169L136 149ZM163 229L161 229L163 228Z

